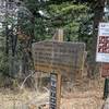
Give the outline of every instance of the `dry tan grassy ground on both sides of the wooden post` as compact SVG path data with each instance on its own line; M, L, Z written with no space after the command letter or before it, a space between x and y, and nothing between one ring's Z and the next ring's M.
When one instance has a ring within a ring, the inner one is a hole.
M104 80L85 80L73 86L62 88L61 109L101 109L104 104ZM46 104L46 105L45 105ZM36 92L29 89L12 92L0 90L0 109L49 109L49 92Z

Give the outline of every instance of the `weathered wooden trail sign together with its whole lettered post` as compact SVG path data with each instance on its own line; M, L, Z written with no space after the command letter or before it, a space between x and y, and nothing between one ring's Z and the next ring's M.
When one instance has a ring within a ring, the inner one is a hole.
M82 78L85 44L63 41L63 31L59 29L52 40L33 44L35 70L50 73L50 107L60 109L61 75Z

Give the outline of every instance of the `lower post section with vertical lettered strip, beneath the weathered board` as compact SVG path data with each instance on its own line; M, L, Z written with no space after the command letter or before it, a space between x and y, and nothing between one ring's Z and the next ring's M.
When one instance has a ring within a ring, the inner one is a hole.
M58 73L50 73L50 106L49 109L59 109L60 107L60 82L61 76Z

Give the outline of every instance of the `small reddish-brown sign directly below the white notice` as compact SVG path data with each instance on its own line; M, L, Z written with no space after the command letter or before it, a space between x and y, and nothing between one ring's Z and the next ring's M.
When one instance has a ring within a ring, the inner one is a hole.
M109 76L109 63L101 64L101 76L108 77Z

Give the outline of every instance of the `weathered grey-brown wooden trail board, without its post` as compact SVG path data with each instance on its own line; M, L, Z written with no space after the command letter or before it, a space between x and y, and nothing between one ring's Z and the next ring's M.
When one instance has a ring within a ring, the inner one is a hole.
M40 72L72 73L83 69L85 44L40 41L33 44L35 70Z

